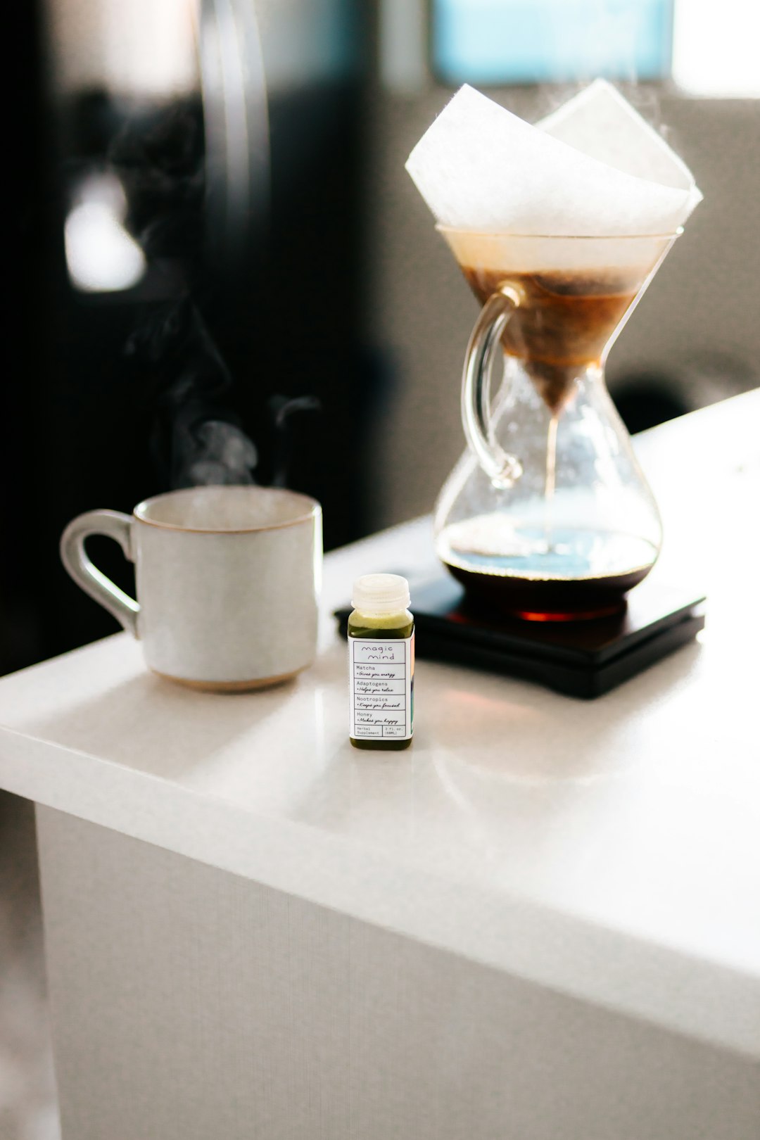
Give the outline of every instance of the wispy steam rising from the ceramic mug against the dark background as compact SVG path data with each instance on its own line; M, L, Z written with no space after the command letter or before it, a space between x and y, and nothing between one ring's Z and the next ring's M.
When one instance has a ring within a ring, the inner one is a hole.
M166 267L182 266L183 295L154 306L125 347L153 380L150 450L161 484L172 489L253 483L259 462L234 410L232 376L191 299L209 293L204 148L203 113L193 98L126 123L109 148L125 225L148 263L164 284ZM273 433L276 487L287 483L292 413L314 406L311 397L270 401L271 420L261 427Z

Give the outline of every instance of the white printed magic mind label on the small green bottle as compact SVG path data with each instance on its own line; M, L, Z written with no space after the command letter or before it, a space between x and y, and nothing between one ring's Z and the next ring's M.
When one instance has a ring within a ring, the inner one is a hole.
M409 740L414 723L415 635L349 638L351 735Z

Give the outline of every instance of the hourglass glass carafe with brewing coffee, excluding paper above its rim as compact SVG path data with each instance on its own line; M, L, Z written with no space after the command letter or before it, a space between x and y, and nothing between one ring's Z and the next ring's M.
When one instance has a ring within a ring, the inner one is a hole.
M483 308L463 374L469 446L435 507L438 554L497 612L574 620L621 610L654 565L662 529L604 364L676 235L439 229Z

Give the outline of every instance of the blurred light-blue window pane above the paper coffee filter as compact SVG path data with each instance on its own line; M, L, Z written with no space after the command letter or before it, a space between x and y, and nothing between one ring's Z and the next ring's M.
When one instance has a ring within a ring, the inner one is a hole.
M566 83L670 74L672 0L432 0L444 83Z

